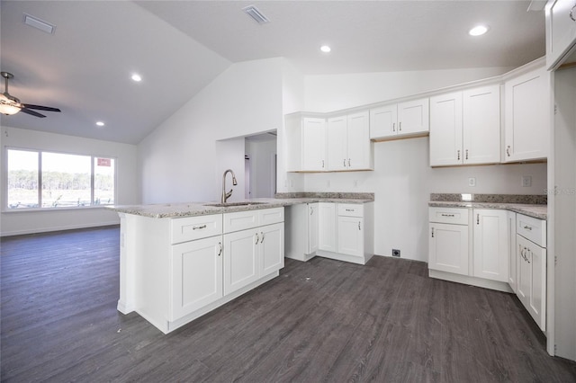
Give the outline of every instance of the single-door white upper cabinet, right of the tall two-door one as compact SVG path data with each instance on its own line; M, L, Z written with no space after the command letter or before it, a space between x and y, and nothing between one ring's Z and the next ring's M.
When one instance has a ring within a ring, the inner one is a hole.
M545 159L550 136L550 74L545 67L505 84L504 161Z

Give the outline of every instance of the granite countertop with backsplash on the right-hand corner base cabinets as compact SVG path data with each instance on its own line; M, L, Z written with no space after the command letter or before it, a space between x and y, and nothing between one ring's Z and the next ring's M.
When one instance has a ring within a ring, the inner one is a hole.
M447 208L502 209L547 219L546 196L518 194L431 194L428 206Z

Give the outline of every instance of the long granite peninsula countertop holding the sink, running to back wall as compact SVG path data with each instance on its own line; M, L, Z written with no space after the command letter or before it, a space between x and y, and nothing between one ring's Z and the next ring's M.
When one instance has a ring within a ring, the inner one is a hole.
M231 213L235 211L272 209L311 202L366 203L374 201L374 193L284 193L277 194L276 197L277 198L230 201L228 206L210 206L219 204L218 202L210 201L157 203L150 205L114 205L107 207L107 209L149 218L183 218ZM238 202L247 202L248 204L234 205Z

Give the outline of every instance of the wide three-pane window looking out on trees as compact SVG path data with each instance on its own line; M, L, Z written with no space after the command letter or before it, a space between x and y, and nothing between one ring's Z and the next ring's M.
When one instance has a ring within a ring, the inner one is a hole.
M79 208L114 203L115 160L7 149L7 208Z

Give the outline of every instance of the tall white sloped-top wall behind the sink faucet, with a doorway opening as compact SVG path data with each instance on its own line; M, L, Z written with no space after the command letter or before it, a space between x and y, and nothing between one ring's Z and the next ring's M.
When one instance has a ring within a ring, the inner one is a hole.
M233 155L216 141L281 129L283 61L230 66L139 143L143 203L220 200L228 168L243 181L243 139L229 144ZM243 195L238 184L230 200Z

